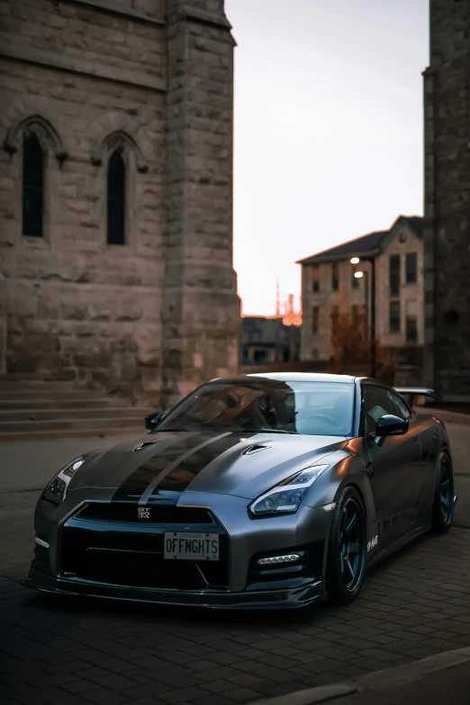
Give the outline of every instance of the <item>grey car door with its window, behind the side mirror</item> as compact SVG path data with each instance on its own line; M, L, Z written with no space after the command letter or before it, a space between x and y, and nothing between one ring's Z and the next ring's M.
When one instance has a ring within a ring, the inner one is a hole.
M385 414L408 419L408 433L375 437L376 423ZM411 529L420 486L420 433L401 397L374 384L364 384L362 388L362 424L370 461L367 474L377 514L378 543L383 548Z

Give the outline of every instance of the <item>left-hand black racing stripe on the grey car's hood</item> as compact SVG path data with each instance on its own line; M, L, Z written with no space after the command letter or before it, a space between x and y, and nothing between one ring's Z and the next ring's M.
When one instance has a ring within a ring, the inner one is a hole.
M208 436L210 437L210 436ZM138 469L134 470L113 495L112 502L122 502L126 499L139 499L146 490L150 482L158 477L168 465L175 462L182 455L185 455L192 448L196 448L201 443L201 434L191 434L176 443L172 443L167 449L159 445L155 446L155 453L147 458Z

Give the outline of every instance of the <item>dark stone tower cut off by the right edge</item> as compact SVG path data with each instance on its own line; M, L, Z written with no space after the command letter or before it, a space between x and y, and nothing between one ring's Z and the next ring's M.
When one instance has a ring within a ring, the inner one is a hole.
M470 0L430 0L424 72L425 378L470 399Z

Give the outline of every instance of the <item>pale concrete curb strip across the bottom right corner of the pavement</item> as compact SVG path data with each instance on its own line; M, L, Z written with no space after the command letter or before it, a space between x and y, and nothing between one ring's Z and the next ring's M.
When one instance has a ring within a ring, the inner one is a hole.
M371 674L360 675L351 681L321 685L305 691L292 692L274 698L256 701L253 705L315 705L318 702L328 702L351 693L372 691L382 692L388 688L418 681L426 675L443 671L455 665L470 661L470 647L458 648L455 651L445 651L436 656L428 656L411 664L385 668Z

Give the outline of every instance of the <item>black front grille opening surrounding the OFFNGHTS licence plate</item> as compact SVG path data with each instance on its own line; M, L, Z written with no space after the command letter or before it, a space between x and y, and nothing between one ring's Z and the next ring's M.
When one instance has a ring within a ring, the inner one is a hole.
M228 589L227 535L207 509L155 506L150 521L139 521L137 506L90 503L68 519L61 531L61 575L136 588ZM163 558L165 531L201 531L203 524L220 535L220 560Z

